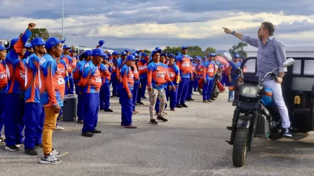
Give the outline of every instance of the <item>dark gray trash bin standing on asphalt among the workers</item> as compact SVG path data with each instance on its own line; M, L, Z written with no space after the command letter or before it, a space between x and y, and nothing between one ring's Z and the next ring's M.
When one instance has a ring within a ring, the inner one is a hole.
M63 121L76 121L77 95L64 95Z

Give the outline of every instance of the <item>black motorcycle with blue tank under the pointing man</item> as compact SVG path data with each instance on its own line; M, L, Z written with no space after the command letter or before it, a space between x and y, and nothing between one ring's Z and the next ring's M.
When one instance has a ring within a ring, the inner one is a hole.
M232 62L230 53L224 53L224 58ZM277 79L274 71L281 67L293 65L294 59L287 59L282 66L268 72L264 77L245 75L241 68L237 68L235 73L239 75L239 80L235 86L237 99L232 103L236 106L231 127L230 140L226 141L233 145L232 162L233 165L241 167L246 163L247 153L253 148L253 139L270 138L277 140L279 138L291 138L283 136L281 127L281 118L279 111L273 100L273 91L263 85L266 77L270 76L272 80ZM236 90L237 87L237 90Z

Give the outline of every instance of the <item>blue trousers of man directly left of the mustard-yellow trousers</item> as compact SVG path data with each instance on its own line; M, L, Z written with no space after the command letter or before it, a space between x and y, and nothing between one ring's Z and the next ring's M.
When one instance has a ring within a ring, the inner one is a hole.
M42 129L45 120L45 111L40 103L25 103L24 111L24 146L25 149L34 148L42 143Z

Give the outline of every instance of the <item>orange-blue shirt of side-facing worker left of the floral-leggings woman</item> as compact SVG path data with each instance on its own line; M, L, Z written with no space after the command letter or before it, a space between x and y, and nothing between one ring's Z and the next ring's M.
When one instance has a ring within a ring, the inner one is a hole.
M119 83L120 88L124 88L127 91L127 94L130 94L134 87L134 75L131 67L128 67L126 64L120 69L121 83Z

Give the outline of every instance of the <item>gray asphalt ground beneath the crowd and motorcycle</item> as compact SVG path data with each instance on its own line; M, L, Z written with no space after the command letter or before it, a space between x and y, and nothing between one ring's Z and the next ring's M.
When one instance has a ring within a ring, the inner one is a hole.
M111 98L113 113L100 112L97 129L102 133L82 137L82 124L59 122L64 131L53 133L53 146L66 153L58 165L39 164L40 155L29 156L21 147L9 152L0 146L0 176L311 176L314 175L314 136L300 141L271 141L255 138L244 167L232 164L230 126L234 107L227 103L228 93L214 103L195 101L188 108L176 108L159 125L149 123L148 99L138 105L140 113L133 123L142 126L127 129L120 126L121 106ZM148 97L148 95L147 95ZM3 133L4 130L2 130Z

